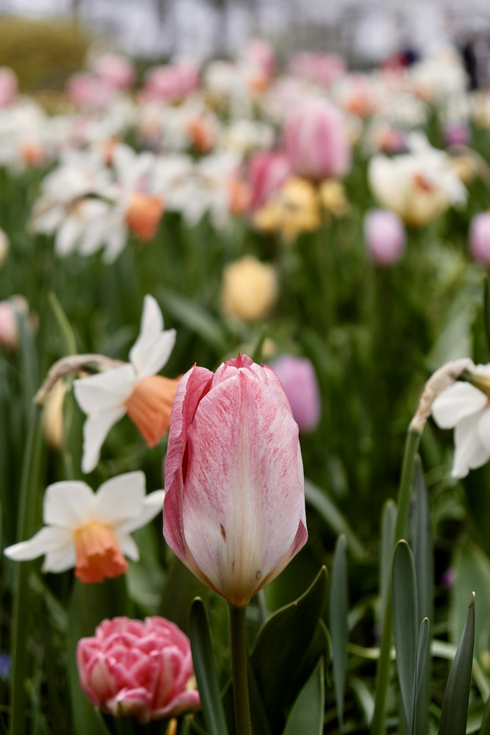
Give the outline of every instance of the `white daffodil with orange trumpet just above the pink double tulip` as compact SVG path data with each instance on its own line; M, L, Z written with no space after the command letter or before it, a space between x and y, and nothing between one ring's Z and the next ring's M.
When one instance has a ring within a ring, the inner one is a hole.
M81 481L56 482L44 495L44 528L29 541L5 549L16 562L45 555L43 572L75 567L82 582L118 577L128 568L124 556L137 562L130 536L162 512L165 490L145 495L145 475L130 472L104 482L93 492Z

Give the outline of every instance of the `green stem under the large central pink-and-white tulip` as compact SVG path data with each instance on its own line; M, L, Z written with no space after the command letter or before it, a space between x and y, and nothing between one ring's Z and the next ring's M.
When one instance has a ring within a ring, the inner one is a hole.
M237 735L252 735L250 705L248 703L247 643L245 617L247 606L230 605L231 671L233 673L233 700Z

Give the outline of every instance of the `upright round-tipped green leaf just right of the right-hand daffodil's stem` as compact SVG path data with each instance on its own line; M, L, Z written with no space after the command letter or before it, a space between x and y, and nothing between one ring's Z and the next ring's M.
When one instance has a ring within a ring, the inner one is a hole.
M406 541L394 550L392 571L393 631L397 650L397 672L400 681L406 724L411 712L417 657L417 581L414 557Z

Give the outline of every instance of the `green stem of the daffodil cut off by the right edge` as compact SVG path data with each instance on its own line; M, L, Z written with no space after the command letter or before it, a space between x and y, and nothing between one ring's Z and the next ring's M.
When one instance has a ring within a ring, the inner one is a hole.
M397 525L394 531L394 545L406 534L406 523L408 509L410 507L412 488L414 485L415 458L419 449L422 431L409 428L403 456L402 474L400 478L400 490L398 491L397 503ZM386 606L383 612L383 631L381 634L381 648L378 660L378 673L376 678L375 711L372 715L371 735L381 735L384 731L384 704L386 691L389 684L391 670L390 650L392 648L392 580L391 574L388 578L386 590Z

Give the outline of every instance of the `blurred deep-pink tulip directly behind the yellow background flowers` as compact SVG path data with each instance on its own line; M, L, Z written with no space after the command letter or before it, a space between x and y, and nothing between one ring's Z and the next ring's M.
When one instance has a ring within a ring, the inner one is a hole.
M251 212L264 207L290 175L291 164L284 151L260 151L254 154L248 165Z

